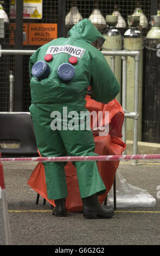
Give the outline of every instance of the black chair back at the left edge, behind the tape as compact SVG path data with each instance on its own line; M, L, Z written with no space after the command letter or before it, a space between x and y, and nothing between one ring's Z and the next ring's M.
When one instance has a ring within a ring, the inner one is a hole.
M30 114L0 113L0 151L2 157L39 156Z

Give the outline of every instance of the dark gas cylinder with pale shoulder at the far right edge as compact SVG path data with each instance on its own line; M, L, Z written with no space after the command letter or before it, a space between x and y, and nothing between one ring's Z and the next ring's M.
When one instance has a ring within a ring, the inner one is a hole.
M160 143L160 16L151 16L145 41L143 141Z

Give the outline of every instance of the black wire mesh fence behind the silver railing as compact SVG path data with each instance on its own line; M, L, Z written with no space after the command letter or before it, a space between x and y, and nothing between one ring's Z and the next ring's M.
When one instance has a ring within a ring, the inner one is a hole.
M17 8L23 4L23 0L17 1ZM25 1L24 1L25 2ZM95 9L98 9L100 15L105 20L106 15L113 14L114 11L119 11L121 17L123 17L126 27L119 28L121 35L123 36L126 31L127 15L132 15L136 8L141 8L143 13L150 22L150 15L157 13L157 2L159 0L107 0L107 1L72 1L72 0L43 0L42 1L42 19L23 19L23 11L19 12L17 16L13 16L13 10L11 6L15 3L14 0L0 1L5 13L8 15L8 22L4 22L4 36L0 36L0 44L2 49L23 49L23 50L36 50L41 46L33 45L28 42L22 42L22 33L25 27L29 26L30 23L39 24L57 24L57 37L66 36L69 28L75 23L68 23L68 14L71 13L74 5L79 11L81 17L91 18L91 15ZM23 6L23 5L22 5ZM1 9L1 7L0 7ZM23 8L21 8L23 9ZM138 10L137 10L138 11ZM22 17L21 17L22 14ZM2 15L2 14L1 14ZM0 17L2 17L0 15ZM1 19L1 18L0 18ZM98 20L98 18L97 18ZM143 20L142 20L143 22ZM21 25L22 24L22 25ZM17 26L17 28L16 28ZM22 26L22 27L21 27ZM16 29L15 29L16 28ZM101 32L105 30L106 25L103 26ZM148 32L148 28L143 27L142 33L145 36ZM28 76L28 62L29 56L14 56L14 55L3 55L0 58L0 111L9 110L9 74L12 71L15 77L15 105L16 111L28 111L30 105L30 89L29 89L29 76Z

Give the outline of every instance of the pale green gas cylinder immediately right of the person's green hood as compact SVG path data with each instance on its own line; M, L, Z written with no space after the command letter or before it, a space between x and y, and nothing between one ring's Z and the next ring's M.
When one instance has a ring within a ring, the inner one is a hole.
M116 28L118 22L118 16L106 15L106 24L109 26L103 36L106 39L102 46L102 51L121 50L121 34ZM108 64L111 66L110 56L105 56ZM115 58L115 70L114 75L121 87L121 57L116 56ZM121 92L117 95L116 99L121 103Z

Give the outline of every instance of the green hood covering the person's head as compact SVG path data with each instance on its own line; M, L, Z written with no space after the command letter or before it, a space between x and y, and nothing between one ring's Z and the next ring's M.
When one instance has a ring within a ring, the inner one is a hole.
M97 28L88 19L84 19L74 25L68 32L69 36L74 39L82 39L92 44L92 42L98 40L103 45L106 40Z

